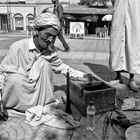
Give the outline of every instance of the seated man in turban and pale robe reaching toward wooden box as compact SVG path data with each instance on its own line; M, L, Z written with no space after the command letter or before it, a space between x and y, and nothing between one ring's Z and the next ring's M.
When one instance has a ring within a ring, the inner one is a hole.
M41 13L34 20L36 35L15 42L0 65L4 75L1 93L2 107L7 111L25 113L28 108L55 102L53 73L87 80L87 74L64 64L52 43L60 30L60 22L52 13ZM85 78L84 78L85 77Z

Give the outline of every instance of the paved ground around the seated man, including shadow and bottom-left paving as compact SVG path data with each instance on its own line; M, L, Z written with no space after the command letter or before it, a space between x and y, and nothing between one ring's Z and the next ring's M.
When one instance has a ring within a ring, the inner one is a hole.
M25 33L0 34L0 62L14 41L27 37ZM114 77L108 69L109 38L100 39L88 36L84 39L69 39L66 37L66 40L70 45L70 52L63 52L64 48L59 40L57 40L55 44L64 63L84 72L94 72L107 81ZM128 75L124 74L123 79L126 83L128 80L127 77ZM139 76L135 76L135 78L137 82L140 79ZM56 98L62 100L60 97L64 96L65 99L66 78L63 75L55 74L54 81ZM139 93L134 94L136 97L139 97ZM44 125L39 128L31 127L24 123L23 118L10 118L7 122L0 122L0 130L2 130L0 131L0 140L8 138L9 140L45 140L56 139L56 137L57 140L70 140L72 135L71 131L60 132L59 130ZM52 135L51 131L53 131L55 135Z

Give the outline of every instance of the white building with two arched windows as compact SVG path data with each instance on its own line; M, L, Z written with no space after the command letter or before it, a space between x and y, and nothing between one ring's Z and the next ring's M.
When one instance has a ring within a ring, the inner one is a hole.
M34 19L33 0L0 0L0 30L26 31Z

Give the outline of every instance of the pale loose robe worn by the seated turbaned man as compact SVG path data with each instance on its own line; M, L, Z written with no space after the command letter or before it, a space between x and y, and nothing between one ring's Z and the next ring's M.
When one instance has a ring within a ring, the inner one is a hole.
M41 54L33 39L15 42L0 65L7 73L2 86L2 100L7 109L25 112L28 108L55 102L53 73L82 78L84 73L62 63L56 52Z

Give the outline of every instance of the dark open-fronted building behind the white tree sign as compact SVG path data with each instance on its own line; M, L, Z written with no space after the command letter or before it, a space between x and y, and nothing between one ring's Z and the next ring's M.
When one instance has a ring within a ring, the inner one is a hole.
M84 2L80 0L78 4L70 4L64 7L65 32L69 34L70 22L84 22L85 34L97 35L98 31L99 33L102 31L108 35L110 33L111 20L103 21L102 19L105 15L112 15L112 3L108 1L105 6L96 5L89 7L86 4L87 1L84 0Z

